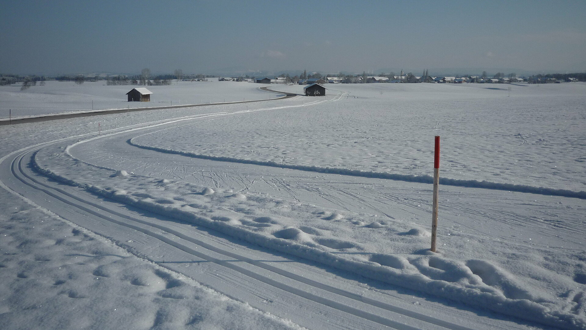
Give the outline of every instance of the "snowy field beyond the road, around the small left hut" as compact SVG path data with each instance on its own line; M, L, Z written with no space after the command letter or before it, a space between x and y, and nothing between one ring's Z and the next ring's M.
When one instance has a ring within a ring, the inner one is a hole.
M30 86L21 91L21 84L0 86L0 119L29 115L86 112L91 110L178 106L264 100L271 95L258 90L258 85L234 81L172 81L169 86L107 86L106 81L46 81L45 86ZM128 102L126 93L135 87L147 87L154 94L151 102ZM226 88L230 93L226 94ZM272 97L275 97L274 95Z

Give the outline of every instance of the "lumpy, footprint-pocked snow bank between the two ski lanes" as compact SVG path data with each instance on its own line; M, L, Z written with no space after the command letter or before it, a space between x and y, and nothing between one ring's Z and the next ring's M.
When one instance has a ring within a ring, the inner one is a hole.
M556 301L536 294L515 275L490 261L452 260L429 251L411 255L381 254L368 251L356 241L323 236L321 229L315 226L318 221L349 226L355 223L352 220L357 220L356 215L342 216L315 206L234 193L229 189L214 191L192 183L133 173L120 175L121 171L71 159L57 148L36 152L32 166L43 175L97 195L374 280L564 329L586 328L586 318L578 312L586 302L575 298L580 292L575 294L573 302ZM248 212L248 206L259 204L274 205L275 209L302 207L306 219L284 221L286 212L265 215ZM295 221L298 224L291 226ZM364 227L375 230L379 226L380 223L372 223ZM416 230L406 234L425 236Z

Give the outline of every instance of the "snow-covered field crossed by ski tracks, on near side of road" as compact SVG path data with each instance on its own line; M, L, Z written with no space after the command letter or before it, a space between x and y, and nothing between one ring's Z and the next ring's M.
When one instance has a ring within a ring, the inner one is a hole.
M510 87L336 84L325 97L0 127L0 179L53 212L0 195L0 321L584 329L586 85ZM434 135L448 179L439 253ZM128 298L114 317L116 297Z

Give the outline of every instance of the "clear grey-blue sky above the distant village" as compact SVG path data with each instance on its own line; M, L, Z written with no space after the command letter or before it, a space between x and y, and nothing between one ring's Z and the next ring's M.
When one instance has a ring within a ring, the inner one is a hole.
M584 0L0 0L0 8L0 73L586 71Z

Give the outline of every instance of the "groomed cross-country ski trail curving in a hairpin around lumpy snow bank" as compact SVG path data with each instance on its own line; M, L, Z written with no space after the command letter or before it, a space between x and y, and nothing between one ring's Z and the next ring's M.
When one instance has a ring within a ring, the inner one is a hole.
M331 99L320 99L301 106L333 102L341 96L342 93L338 93ZM92 133L47 141L4 157L0 164L0 181L5 188L23 196L33 205L107 237L139 257L309 329L521 329L527 325L526 321L455 302L446 304L445 300L395 288L314 261L261 249L213 229L57 182L32 166L32 158L39 150L55 145L67 147L81 141L67 152L93 166L124 169L199 185L233 187L235 193L268 193L349 212L363 212L366 209L384 216L386 206L393 203L401 205L400 208L406 213L427 216L427 210L414 207L428 199L428 196L421 196L421 192L430 189L425 183L328 173L316 175L296 169L197 159L137 148L131 143L133 137L147 132L271 110L275 108L198 114L115 128L102 132L100 136ZM380 190L387 192L384 198L381 198ZM470 205L470 199L465 203L458 202L463 190L467 195L476 196L478 205ZM515 213L519 203L532 200L527 195L530 194L513 192L503 196L498 190L443 188L442 212L445 212L446 219L450 219L444 225L462 226L472 232L483 230L475 223L458 222L459 216L452 216L457 213L482 221L499 222L497 227L506 232L523 220L522 216L510 215ZM556 196L541 198L544 206L535 207L533 212L545 212L563 199ZM579 207L574 209L579 212ZM560 223L564 220L559 219ZM542 244L547 246L547 237L551 233L545 224L536 223L527 230L543 236ZM565 232L567 246L578 249L583 240L582 233L572 227L567 227ZM559 239L552 236L554 238Z

